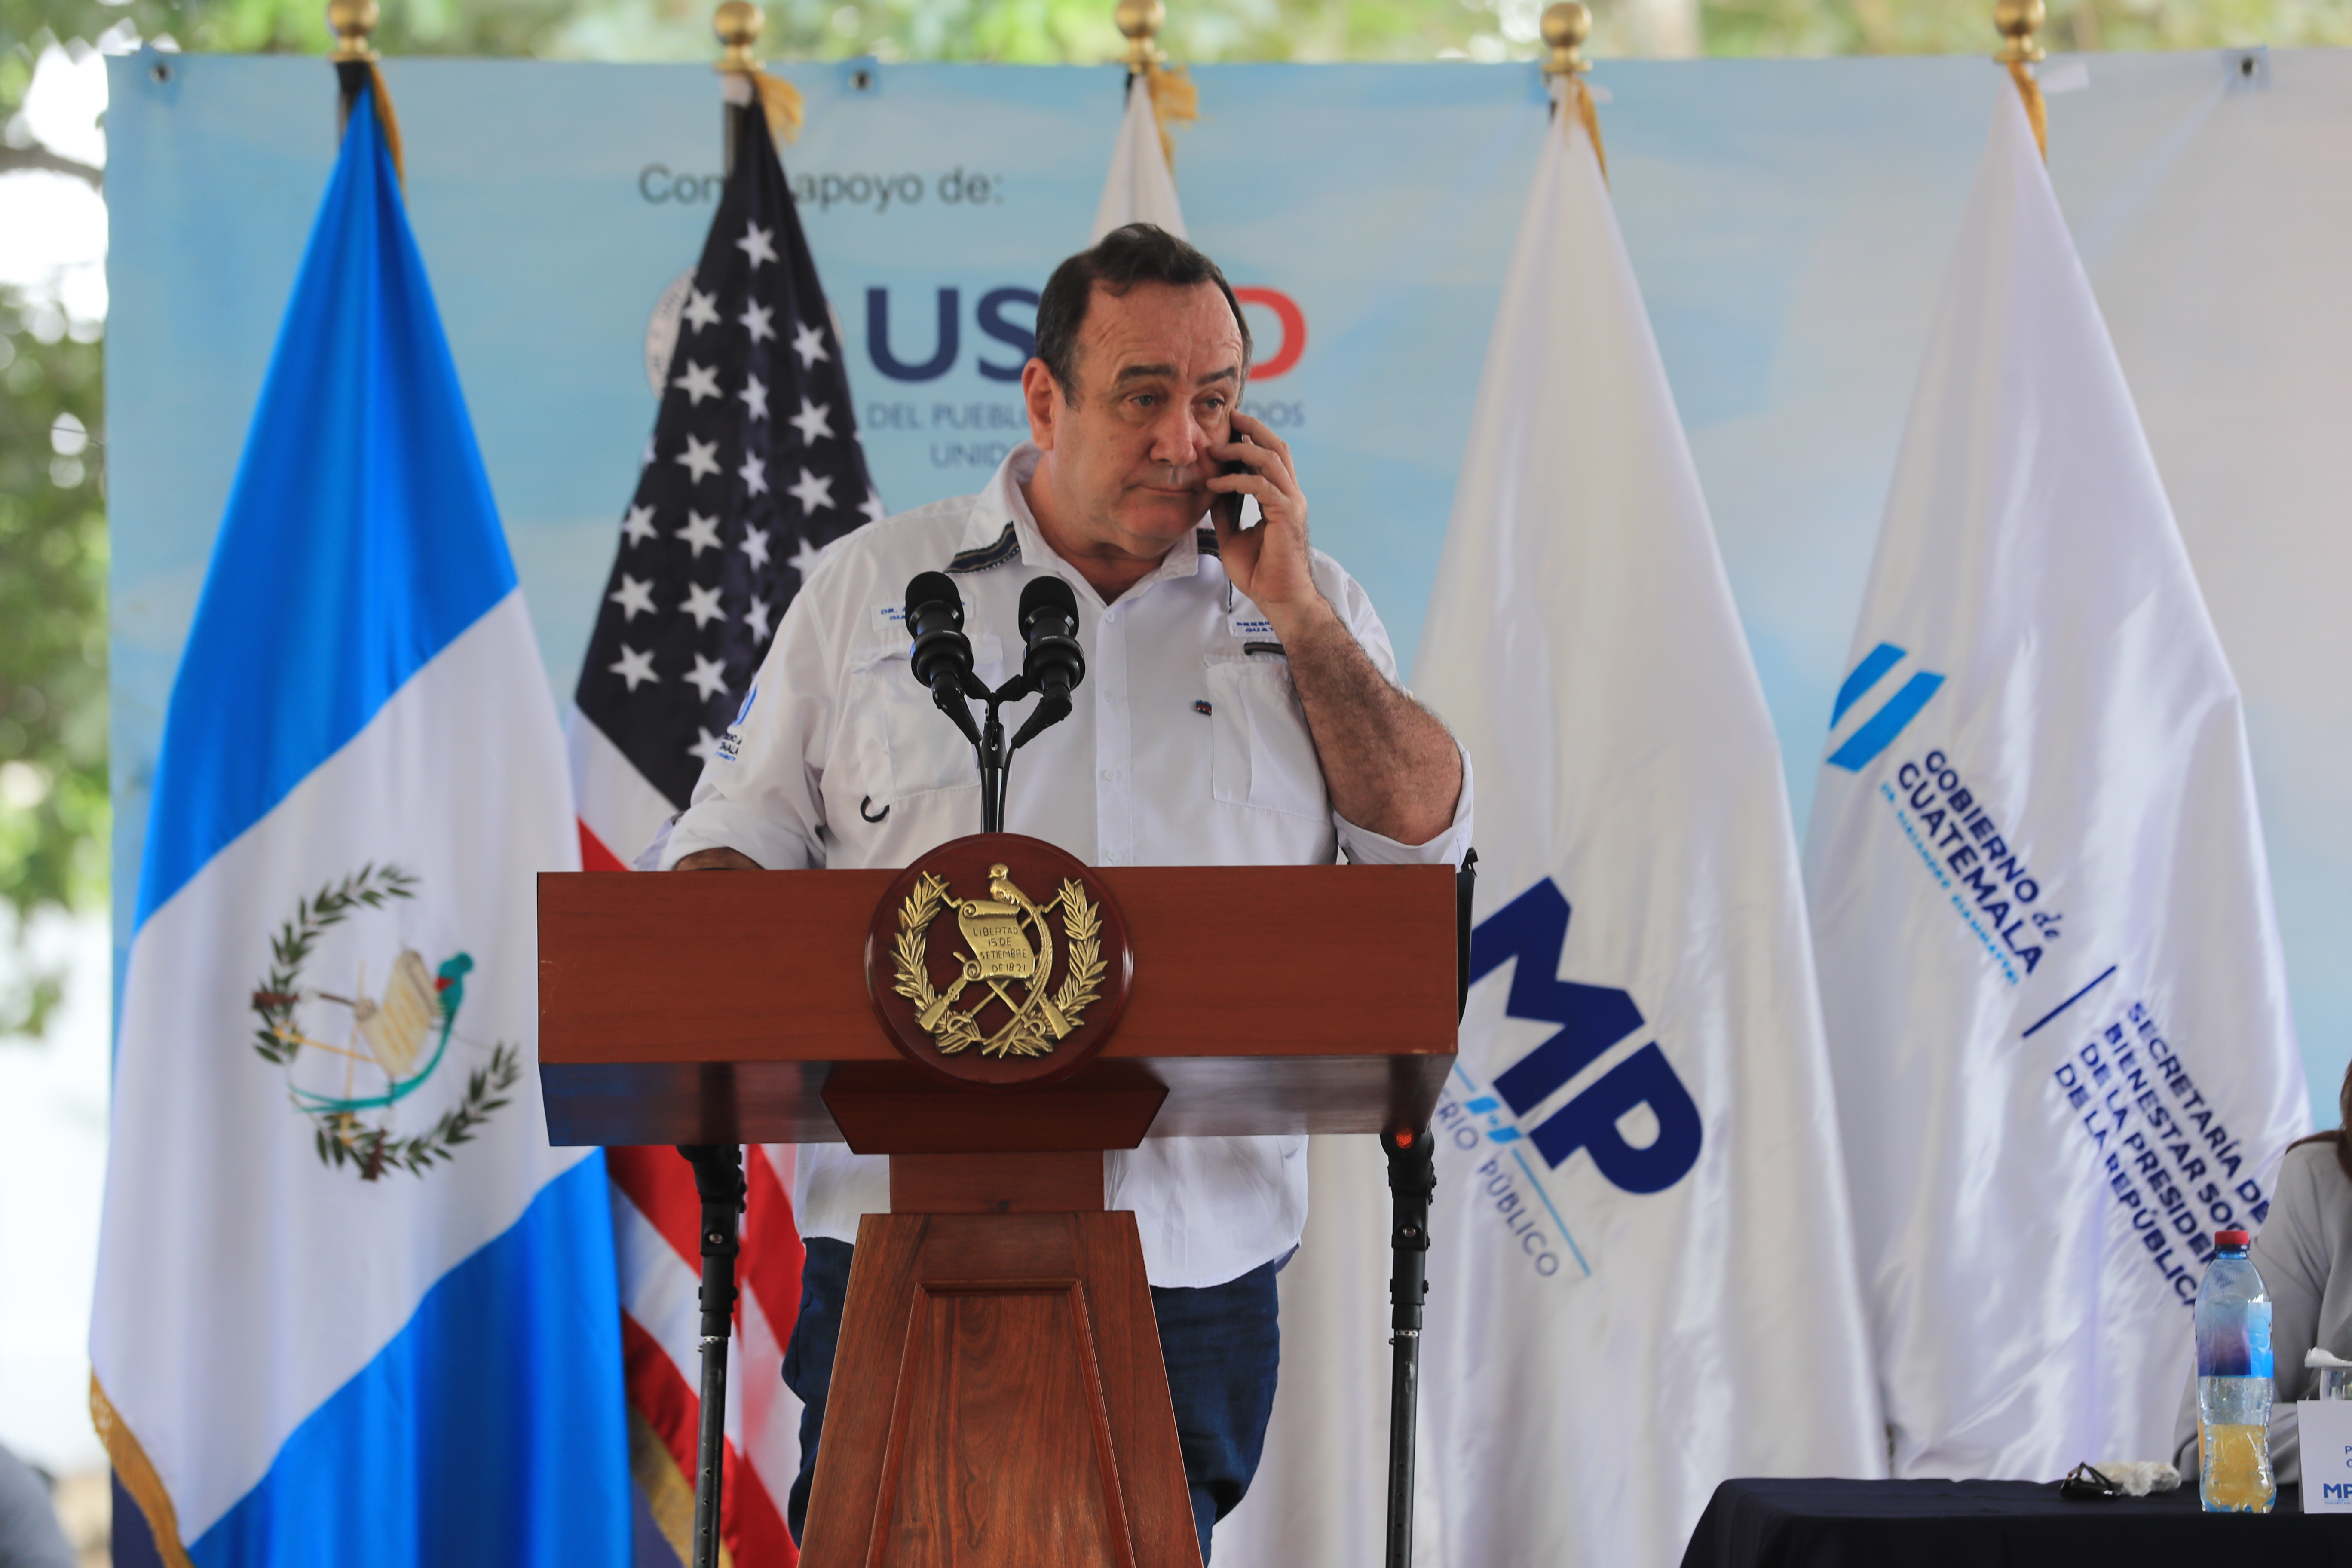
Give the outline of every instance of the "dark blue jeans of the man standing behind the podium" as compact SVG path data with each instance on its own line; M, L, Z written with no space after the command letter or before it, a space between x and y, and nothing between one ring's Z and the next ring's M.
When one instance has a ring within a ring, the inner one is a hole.
M816 1443L826 1429L826 1389L833 1385L833 1352L842 1342L842 1302L849 1298L847 1241L809 1239L800 1269L800 1319L783 1349L783 1385L807 1406L800 1415L800 1476L786 1497L783 1521L800 1540L809 1523L809 1486L816 1481ZM1209 1561L1209 1526L1230 1514L1265 1453L1265 1422L1275 1413L1275 1373L1282 1363L1282 1328L1275 1324L1275 1272L1289 1262L1261 1262L1240 1279L1204 1291L1152 1286L1160 1321L1160 1354L1169 1366L1176 1401L1176 1441L1183 1479L1192 1490L1192 1528L1200 1559Z

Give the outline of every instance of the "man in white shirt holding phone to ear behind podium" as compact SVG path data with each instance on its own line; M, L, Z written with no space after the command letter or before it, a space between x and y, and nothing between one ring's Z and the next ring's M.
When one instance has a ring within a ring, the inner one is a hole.
M1291 451L1240 411L1249 327L1216 263L1148 223L1063 261L1021 374L1033 444L978 496L833 543L786 611L661 865L908 865L978 832L962 733L908 670L906 583L948 571L981 679L1018 668L1021 588L1080 604L1075 712L1016 755L1007 832L1091 865L1461 863L1461 748L1395 684L1364 590L1308 545ZM1242 498L1263 522L1240 529ZM1214 527L1202 527L1209 517ZM1035 698L1009 705L1018 729ZM809 1239L786 1380L807 1401L800 1535L849 1241L887 1161L800 1152ZM1275 1269L1305 1225L1303 1138L1155 1138L1105 1164L1143 1237L1202 1556L1272 1413Z

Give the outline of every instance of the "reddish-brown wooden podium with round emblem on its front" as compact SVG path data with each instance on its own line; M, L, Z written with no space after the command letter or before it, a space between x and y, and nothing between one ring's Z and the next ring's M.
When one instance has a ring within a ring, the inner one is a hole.
M1035 842L957 842L995 844ZM809 1568L1200 1568L1103 1152L1425 1128L1454 1063L1454 870L1087 870L1131 985L1091 1056L1030 1086L953 1081L884 1025L870 933L910 877L543 875L548 1135L891 1157L891 1213L858 1225Z

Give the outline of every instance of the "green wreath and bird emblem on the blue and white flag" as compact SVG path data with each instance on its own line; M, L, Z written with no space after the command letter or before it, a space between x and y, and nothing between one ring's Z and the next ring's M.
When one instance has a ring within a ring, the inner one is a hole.
M296 900L294 919L285 922L278 936L270 938L270 969L254 990L254 1016L261 1020L261 1027L254 1030L254 1051L266 1063L287 1070L287 1093L294 1107L313 1121L313 1147L320 1164L329 1168L355 1166L360 1180L367 1182L379 1180L393 1168L423 1175L435 1164L456 1159L456 1147L473 1143L475 1128L492 1112L503 1110L508 1103L506 1091L522 1081L522 1051L499 1041L492 1046L489 1063L466 1077L466 1095L454 1107L442 1112L428 1131L395 1138L388 1126L390 1107L423 1084L433 1067L440 1065L442 1051L449 1046L456 1006L463 999L463 978L473 971L473 959L461 952L447 959L440 966L440 976L433 978L426 976L421 957L402 952L393 964L393 976L386 978L381 1001L365 994L336 997L301 987L303 961L308 961L310 950L325 931L343 924L353 910L381 910L393 900L414 896L414 875L397 865L367 863L341 882L329 882L310 898ZM306 1037L294 1023L294 1009L306 997L341 1001L353 1009L353 1034L365 1041L365 1053ZM386 1023L369 1030L369 1023L379 1018ZM430 1060L416 1065L409 1058L430 1037L430 1025L440 1025L440 1044ZM353 1060L369 1060L369 1065L381 1067L388 1084L386 1093L332 1098L294 1086L292 1067L306 1046ZM376 1107L386 1112L376 1124L360 1119L362 1110Z

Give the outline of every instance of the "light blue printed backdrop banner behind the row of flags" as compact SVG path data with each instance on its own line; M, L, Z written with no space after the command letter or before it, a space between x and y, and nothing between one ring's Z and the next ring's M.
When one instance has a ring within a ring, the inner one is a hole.
M2331 602L2352 574L2352 531L2336 527L2352 494L2352 313L2338 308L2352 54L2089 66L2086 92L2051 99L2051 179L2246 696L2298 1034L2333 1119L2352 1041L2352 966L2336 961L2352 947L2338 804L2352 618ZM1028 294L1087 237L1124 73L781 71L809 101L783 158L882 498L969 491L1018 437ZM717 200L717 85L708 63L390 61L386 75L419 242L567 691L654 414L647 329ZM1611 200L1802 823L1999 73L1983 59L1611 61L1595 78L1611 94ZM1176 132L1176 181L1192 237L1251 289L1265 346L1251 402L1298 454L1317 543L1364 581L1411 668L1543 139L1536 71L1207 66L1195 80L1202 120ZM113 63L111 92L127 922L162 705L327 183L334 89L320 61L136 54ZM1331 1154L1322 1190L1381 1180L1376 1157ZM1367 1225L1322 1241L1359 1248L1364 1267L1319 1312L1385 1316L1385 1232ZM1430 1302L1432 1333L1446 1309ZM1294 1399L1303 1389L1329 1399ZM1308 1408L1367 1389L1345 1434L1298 1429ZM1385 1356L1287 1361L1270 1448L1376 1474L1381 1389ZM1317 1514L1329 1495L1268 1472L1244 1512L1298 1542L1291 1561L1367 1561L1357 1519Z

